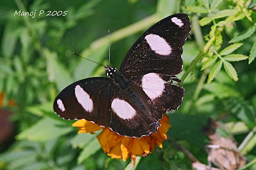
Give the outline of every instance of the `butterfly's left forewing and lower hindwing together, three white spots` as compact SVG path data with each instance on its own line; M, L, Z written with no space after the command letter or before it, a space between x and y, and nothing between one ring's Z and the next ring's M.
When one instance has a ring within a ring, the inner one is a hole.
M140 87L127 83L129 88L122 90L109 78L76 81L56 97L54 111L68 120L84 118L110 127L122 136L140 138L156 132L159 118L153 115L159 110L148 106Z

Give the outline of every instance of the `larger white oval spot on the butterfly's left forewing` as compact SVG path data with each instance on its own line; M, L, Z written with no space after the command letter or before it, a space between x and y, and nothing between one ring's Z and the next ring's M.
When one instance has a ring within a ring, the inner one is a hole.
M78 103L83 106L85 111L92 112L93 110L93 102L90 98L89 94L84 91L84 89L80 85L76 85L75 95Z

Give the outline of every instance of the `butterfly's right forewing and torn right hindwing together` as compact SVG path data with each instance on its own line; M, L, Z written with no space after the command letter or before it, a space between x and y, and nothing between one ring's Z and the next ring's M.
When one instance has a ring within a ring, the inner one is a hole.
M177 110L184 89L174 75L182 71L182 46L191 31L188 15L170 15L145 31L132 45L120 66L120 72L141 87L158 108ZM178 85L174 83L178 82Z

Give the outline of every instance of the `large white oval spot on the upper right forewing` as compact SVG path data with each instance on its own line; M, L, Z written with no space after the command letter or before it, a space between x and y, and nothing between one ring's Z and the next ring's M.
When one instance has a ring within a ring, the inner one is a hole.
M156 34L148 34L145 36L148 45L150 46L151 50L159 55L170 55L172 53L171 46L166 42L164 38Z

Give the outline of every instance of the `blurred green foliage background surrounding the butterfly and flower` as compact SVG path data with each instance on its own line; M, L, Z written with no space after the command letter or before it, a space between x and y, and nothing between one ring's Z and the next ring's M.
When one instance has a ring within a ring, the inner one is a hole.
M248 167L256 168L255 6L242 0L1 1L0 92L6 94L3 107L14 113L15 137L8 148L0 147L0 169L124 169L129 161L111 160L95 138L99 132L77 135L73 122L54 114L52 103L70 83L104 76L104 67L72 52L108 64L110 30L111 65L118 67L143 31L179 12L189 15L192 31L178 75L186 94L169 114L168 136L207 164L202 128L211 117L232 134ZM36 15L14 16L15 10ZM44 15L38 16L40 10ZM68 13L46 16L49 10ZM9 99L17 106L8 108ZM137 168L191 169L170 141L163 146Z

